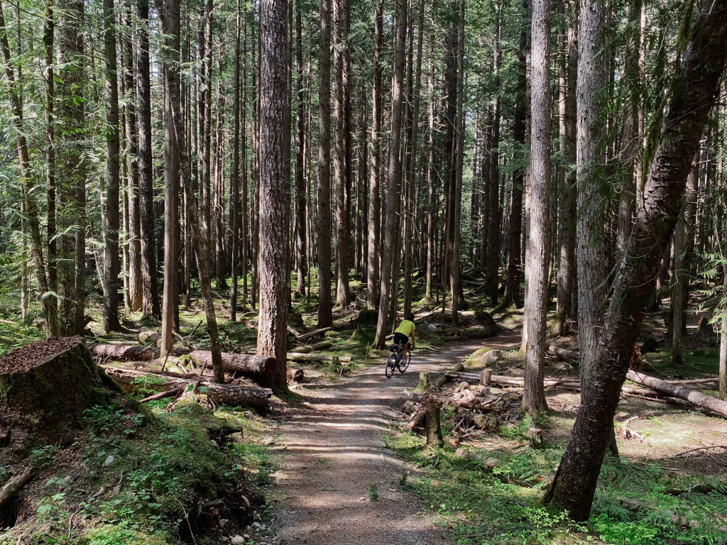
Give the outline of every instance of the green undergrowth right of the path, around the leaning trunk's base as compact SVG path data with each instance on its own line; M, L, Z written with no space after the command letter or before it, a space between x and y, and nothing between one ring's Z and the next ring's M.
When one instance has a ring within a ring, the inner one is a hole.
M503 428L517 445L491 451L433 449L417 435L392 435L388 446L416 467L398 487L420 496L458 545L727 543L720 530L727 526L727 485L719 477L678 477L655 464L606 459L585 524L545 508L542 496L563 445L531 443L530 424Z

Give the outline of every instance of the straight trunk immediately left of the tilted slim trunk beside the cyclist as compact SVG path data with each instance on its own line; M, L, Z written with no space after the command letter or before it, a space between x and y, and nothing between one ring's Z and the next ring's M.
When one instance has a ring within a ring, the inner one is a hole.
M371 169L369 171L369 271L366 305L374 310L379 302L379 253L381 239L381 119L382 119L382 68L381 49L384 28L384 2L378 0L374 19L374 84L371 100Z

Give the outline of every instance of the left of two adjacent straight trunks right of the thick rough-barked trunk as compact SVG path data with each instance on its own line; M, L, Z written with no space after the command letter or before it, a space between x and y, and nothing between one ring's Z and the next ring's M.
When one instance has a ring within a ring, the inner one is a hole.
M331 1L321 0L318 60L318 327L333 323L331 301Z

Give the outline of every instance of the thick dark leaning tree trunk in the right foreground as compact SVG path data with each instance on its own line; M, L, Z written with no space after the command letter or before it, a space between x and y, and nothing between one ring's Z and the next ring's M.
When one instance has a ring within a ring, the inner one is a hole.
M583 402L571 441L544 499L546 504L566 509L574 520L587 520L590 515L620 389L724 70L726 36L727 0L710 0L691 29L643 203L616 275L595 365L582 389Z

